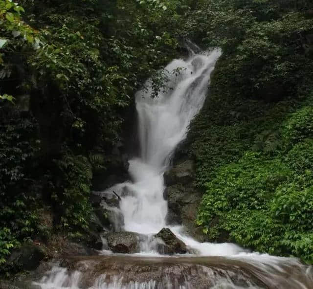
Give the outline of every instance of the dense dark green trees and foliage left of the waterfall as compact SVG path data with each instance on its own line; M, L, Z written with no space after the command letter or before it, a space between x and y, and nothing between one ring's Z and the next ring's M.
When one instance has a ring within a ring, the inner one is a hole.
M0 265L51 229L89 238L92 175L110 170L134 91L160 89L186 3L0 0Z

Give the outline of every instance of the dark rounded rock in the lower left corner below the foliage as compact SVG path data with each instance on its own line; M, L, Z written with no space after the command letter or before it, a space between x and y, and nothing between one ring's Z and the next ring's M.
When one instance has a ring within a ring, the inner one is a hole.
M23 270L34 270L44 258L43 247L34 243L24 243L19 250L11 254L8 263Z

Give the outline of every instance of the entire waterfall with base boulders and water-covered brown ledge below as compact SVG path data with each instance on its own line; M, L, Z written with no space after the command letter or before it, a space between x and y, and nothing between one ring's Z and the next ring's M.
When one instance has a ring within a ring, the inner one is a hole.
M167 87L151 97L152 80L136 93L139 150L132 181L100 195L120 196L99 256L51 264L32 280L41 289L312 289L313 269L293 258L249 252L235 244L199 243L166 221L164 172L190 121L201 110L220 49L192 53L166 68ZM117 229L118 228L118 229ZM115 234L115 235L114 235ZM118 235L119 234L119 235ZM120 244L118 238L123 238ZM111 250L109 250L109 248ZM116 251L114 251L116 248ZM169 256L171 255L171 256Z

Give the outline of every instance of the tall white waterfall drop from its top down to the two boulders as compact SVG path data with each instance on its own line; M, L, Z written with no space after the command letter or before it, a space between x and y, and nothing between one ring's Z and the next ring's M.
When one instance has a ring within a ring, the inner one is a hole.
M126 184L131 193L120 202L126 231L152 234L166 225L163 173L190 121L203 106L211 72L220 56L221 50L214 49L186 60L176 59L164 70L169 89L152 98L148 80L147 89L136 93L140 154L130 160L134 182Z

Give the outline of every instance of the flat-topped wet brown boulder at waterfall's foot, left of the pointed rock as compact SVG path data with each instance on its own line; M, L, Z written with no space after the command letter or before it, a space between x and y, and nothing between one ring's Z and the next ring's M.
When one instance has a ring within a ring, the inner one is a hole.
M139 252L139 235L134 232L116 232L107 236L108 245L114 253Z

